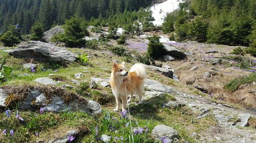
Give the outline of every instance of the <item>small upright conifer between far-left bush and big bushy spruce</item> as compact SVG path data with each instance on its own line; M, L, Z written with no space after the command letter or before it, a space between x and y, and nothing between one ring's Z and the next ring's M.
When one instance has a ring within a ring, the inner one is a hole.
M35 22L35 24L31 28L31 40L35 41L43 41L42 37L44 37L44 28L40 22Z

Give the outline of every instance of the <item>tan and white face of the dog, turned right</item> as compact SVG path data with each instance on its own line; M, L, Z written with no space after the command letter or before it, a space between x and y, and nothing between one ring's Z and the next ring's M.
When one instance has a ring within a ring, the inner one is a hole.
M128 72L125 70L124 62L122 64L117 64L116 62L113 62L113 69L112 72L114 73L115 77L120 77L125 79Z

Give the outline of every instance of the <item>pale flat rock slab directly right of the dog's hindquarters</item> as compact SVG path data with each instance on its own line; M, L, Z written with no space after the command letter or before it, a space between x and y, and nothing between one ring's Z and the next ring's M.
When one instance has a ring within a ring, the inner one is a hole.
M166 85L163 85L162 83L160 83L156 80L145 79L144 86L146 89L148 89L150 91L157 91L157 92L163 92L163 93L174 92L172 88L167 87Z

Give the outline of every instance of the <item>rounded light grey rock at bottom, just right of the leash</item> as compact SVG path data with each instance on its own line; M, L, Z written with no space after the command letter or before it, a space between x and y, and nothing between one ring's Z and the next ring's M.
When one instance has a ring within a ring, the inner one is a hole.
M175 129L165 125L157 125L152 130L152 136L159 141L161 141L161 138L166 137L170 139L170 142L180 138L178 132Z

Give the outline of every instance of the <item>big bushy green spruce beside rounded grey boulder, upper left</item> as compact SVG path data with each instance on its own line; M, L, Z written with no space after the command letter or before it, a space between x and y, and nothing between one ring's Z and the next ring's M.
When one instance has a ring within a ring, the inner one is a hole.
M53 37L53 42L64 42L70 47L79 47L86 45L86 40L82 39L89 36L86 27L86 21L82 18L71 17L63 25L64 33Z

